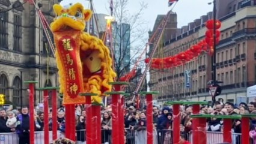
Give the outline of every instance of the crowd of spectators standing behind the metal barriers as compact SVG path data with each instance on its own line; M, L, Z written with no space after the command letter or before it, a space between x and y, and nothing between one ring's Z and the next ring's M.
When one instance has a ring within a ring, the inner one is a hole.
M124 128L126 131L126 143L135 143L133 131L146 130L147 107L142 109L135 109L132 103L126 104L126 112L124 113ZM192 106L183 105L180 106L181 121L181 139L180 143L189 143L189 133L192 132ZM0 110L0 133L17 133L19 136L19 143L29 143L29 109L28 107L22 107L22 109L8 109ZM86 111L83 106L76 106L76 138L77 143L84 143L85 139L85 119ZM223 101L216 101L213 107L210 105L202 105L200 109L201 114L210 115L240 115L246 113L256 114L256 102L240 103L235 106L233 103L223 103ZM35 109L34 124L36 131L43 131L44 129L44 113L43 107L39 106ZM172 125L174 115L172 113L172 106L153 106L153 125L154 130L157 131L157 143L168 144L172 143ZM58 108L58 130L65 133L65 108ZM209 118L207 119L207 131L222 131L222 119ZM52 126L52 110L49 110L49 129ZM175 126L178 127L178 126ZM256 118L251 118L250 121L251 131L248 131L249 136L252 138L251 143L256 144ZM241 133L241 121L235 119L233 121L233 133ZM111 106L102 107L102 143L111 143L111 130L112 130L112 110ZM234 137L236 143L242 143L241 137L237 135Z

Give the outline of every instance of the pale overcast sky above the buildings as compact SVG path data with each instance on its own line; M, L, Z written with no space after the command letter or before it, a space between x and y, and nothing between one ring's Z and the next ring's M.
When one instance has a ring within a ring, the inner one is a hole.
M129 0L129 12L136 13L139 8L139 2L141 1L143 0ZM178 28L212 11L213 5L208 4L208 2L212 1L213 0L179 0L172 9L172 11L177 13ZM61 5L74 4L76 2L80 2L85 8L88 8L88 0L63 0ZM153 29L157 14L166 14L173 7L173 5L172 7L168 7L168 0L144 0L144 2L148 4L143 14L143 19L148 22L148 29ZM110 14L109 0L93 0L93 4L96 13Z

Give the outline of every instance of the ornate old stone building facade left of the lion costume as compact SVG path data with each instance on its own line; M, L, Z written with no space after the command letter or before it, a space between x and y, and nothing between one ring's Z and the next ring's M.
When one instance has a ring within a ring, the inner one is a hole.
M55 16L52 5L58 2L37 1L49 23ZM27 105L28 85L23 83L25 80L38 81L35 88L58 86L55 58L34 5L2 0L0 18L0 94L16 106ZM36 91L35 103L41 103L42 97L42 92Z

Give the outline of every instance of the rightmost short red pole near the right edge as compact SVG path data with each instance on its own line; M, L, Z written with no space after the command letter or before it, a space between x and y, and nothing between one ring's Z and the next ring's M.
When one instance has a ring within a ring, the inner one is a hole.
M242 125L242 143L249 144L249 118L242 117L241 125Z

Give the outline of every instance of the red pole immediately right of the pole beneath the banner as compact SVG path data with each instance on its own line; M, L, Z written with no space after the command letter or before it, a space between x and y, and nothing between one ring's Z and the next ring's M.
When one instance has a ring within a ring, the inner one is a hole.
M85 97L85 110L86 110L86 118L85 118L85 126L86 126L86 142L88 144L92 144L92 137L91 137L91 124L92 124L92 119L91 119L91 96L86 96Z

